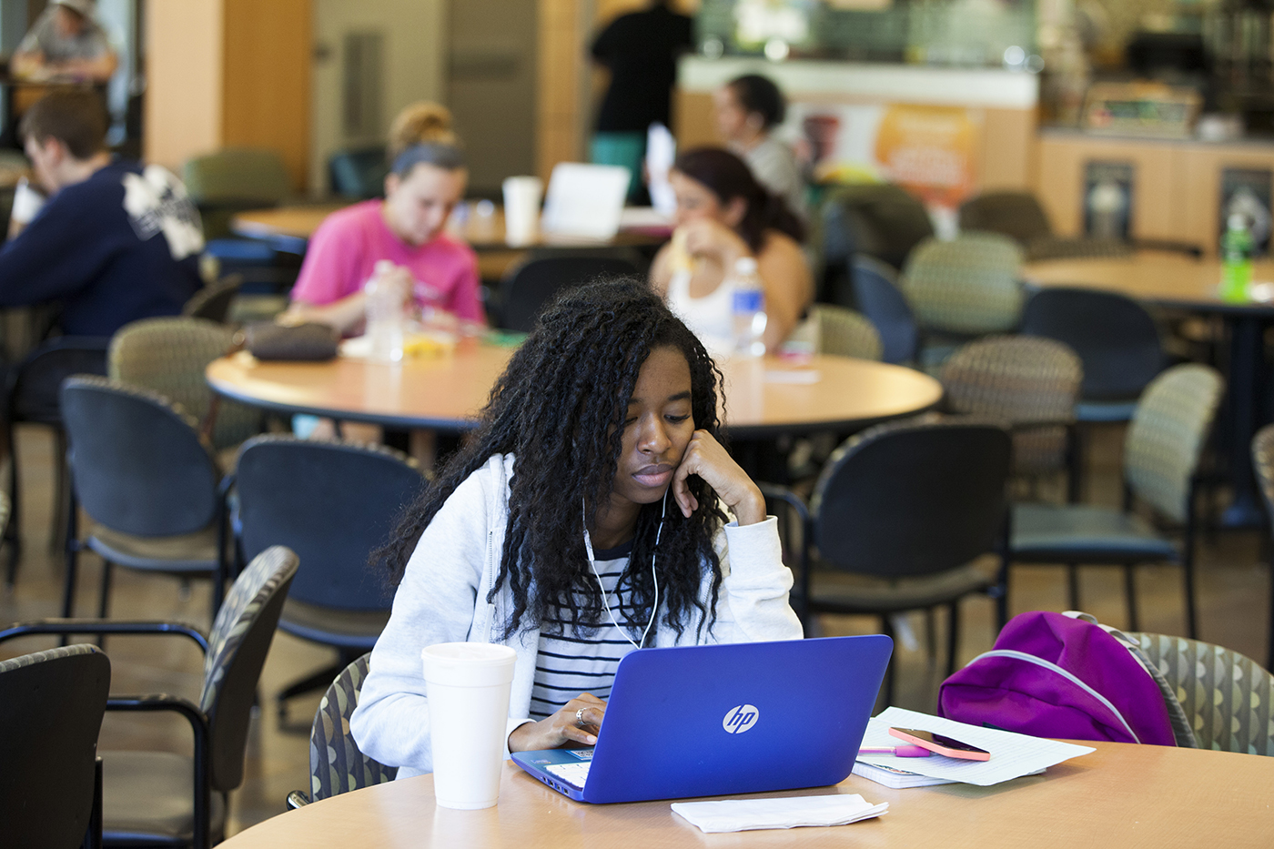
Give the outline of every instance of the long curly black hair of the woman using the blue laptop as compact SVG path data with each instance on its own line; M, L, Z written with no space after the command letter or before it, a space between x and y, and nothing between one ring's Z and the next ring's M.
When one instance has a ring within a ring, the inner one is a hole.
M623 422L637 374L660 347L673 347L691 367L691 408L697 430L721 439L717 388L721 372L703 344L645 280L619 279L572 288L540 315L535 329L490 391L478 428L406 509L392 542L372 553L391 585L403 579L420 534L460 483L494 454L513 454L508 524L499 574L487 600L506 584L513 608L503 639L521 630L573 627L592 634L603 623L603 594L583 546L582 504L601 505L618 469ZM717 498L698 477L688 481L698 509L685 518L675 505L659 538L659 595L664 623L684 632L711 630L721 588L713 537L726 521ZM651 616L651 558L660 502L643 505L620 585L632 588L629 622ZM708 603L699 591L712 570Z

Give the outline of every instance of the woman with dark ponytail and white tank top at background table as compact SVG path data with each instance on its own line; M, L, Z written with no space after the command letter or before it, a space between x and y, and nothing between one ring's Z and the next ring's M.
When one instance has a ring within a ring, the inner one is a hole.
M676 194L676 231L651 265L655 291L708 347L729 348L731 273L740 258L752 256L766 292L768 321L762 340L768 351L777 351L814 297L800 247L804 226L729 150L683 153L669 182Z

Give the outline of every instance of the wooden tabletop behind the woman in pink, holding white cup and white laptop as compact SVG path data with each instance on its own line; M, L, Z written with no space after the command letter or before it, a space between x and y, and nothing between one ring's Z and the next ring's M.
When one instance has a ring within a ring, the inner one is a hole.
M308 240L318 229L324 219L349 204L301 204L293 207L274 207L270 209L250 209L241 212L231 219L231 228L240 236L251 238L274 238L278 236ZM505 209L496 205L493 214L479 215L475 204L469 204L469 214L464 223L457 223L459 217L452 215L447 223L447 232L464 240L475 251L510 250L530 247L622 247L657 245L668 238L668 235L655 229L620 231L614 238L598 240L581 236L553 236L541 233L529 245L510 245L505 241Z

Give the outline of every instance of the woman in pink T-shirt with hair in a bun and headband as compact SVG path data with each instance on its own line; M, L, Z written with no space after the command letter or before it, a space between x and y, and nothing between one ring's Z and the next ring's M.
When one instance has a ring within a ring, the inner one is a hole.
M465 194L469 172L451 113L433 103L409 106L394 121L385 200L364 200L329 215L310 240L285 321L318 321L345 335L363 326L363 288L376 264L394 264L390 279L406 302L442 310L465 323L485 321L478 294L478 258L443 232Z

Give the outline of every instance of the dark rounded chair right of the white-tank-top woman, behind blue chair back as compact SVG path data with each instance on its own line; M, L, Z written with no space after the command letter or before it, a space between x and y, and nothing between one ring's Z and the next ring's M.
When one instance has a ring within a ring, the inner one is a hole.
M864 254L902 268L911 251L934 235L929 210L902 186L864 184L842 186L824 199L815 221L823 278L818 301L864 308L854 303L855 255Z

